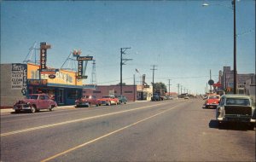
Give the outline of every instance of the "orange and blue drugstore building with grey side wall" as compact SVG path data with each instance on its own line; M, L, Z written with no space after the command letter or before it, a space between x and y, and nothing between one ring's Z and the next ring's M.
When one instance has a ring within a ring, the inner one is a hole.
M83 83L76 72L56 70L39 73L31 63L1 64L1 107L12 107L27 94L45 93L59 106L73 105L82 95Z

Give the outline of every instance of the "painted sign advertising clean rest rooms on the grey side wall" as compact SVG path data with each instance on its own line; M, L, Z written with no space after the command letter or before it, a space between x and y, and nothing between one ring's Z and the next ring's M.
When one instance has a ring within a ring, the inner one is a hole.
M26 95L26 64L12 64L11 72L11 90L21 90L23 95Z

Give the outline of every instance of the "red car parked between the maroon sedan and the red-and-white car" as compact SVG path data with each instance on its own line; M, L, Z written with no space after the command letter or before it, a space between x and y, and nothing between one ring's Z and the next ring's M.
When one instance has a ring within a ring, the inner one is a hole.
M75 101L75 105L76 107L90 107L92 105L96 105L96 107L98 107L101 106L102 103L95 95L84 95Z

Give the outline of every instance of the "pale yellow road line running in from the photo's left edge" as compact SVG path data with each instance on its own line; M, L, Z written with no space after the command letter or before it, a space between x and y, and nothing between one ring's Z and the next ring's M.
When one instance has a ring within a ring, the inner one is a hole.
M15 130L15 131L10 131L10 132L6 132L6 133L1 133L1 136L10 136L10 135L15 135L15 134L23 133L23 132L27 132L27 131L50 128L50 127L59 126L59 125L62 125L62 124L71 124L71 123L76 123L76 122L89 120L89 119L97 119L97 118L107 117L107 116L111 116L111 115L115 115L115 114L119 114L119 113L127 113L127 112L131 112L131 111L141 110L141 109L148 108L148 107L156 107L156 106L165 105L165 104L168 104L168 103L160 103L160 104L146 106L146 107L138 107L138 108L133 108L133 109L130 109L130 110L125 110L125 111L120 111L120 112L115 112L115 113L106 113L106 114L96 115L96 116L88 117L88 118L84 118L84 119L68 120L68 121L65 121L65 122L60 122L60 123L55 123L55 124L46 124L46 125L42 125L42 126L37 126L37 127L24 129L24 130Z

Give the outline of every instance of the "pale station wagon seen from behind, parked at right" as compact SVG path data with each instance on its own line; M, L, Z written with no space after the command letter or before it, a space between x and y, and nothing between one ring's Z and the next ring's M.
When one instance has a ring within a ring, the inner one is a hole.
M219 126L227 122L242 122L254 129L255 105L248 95L222 95L216 108L216 119Z

